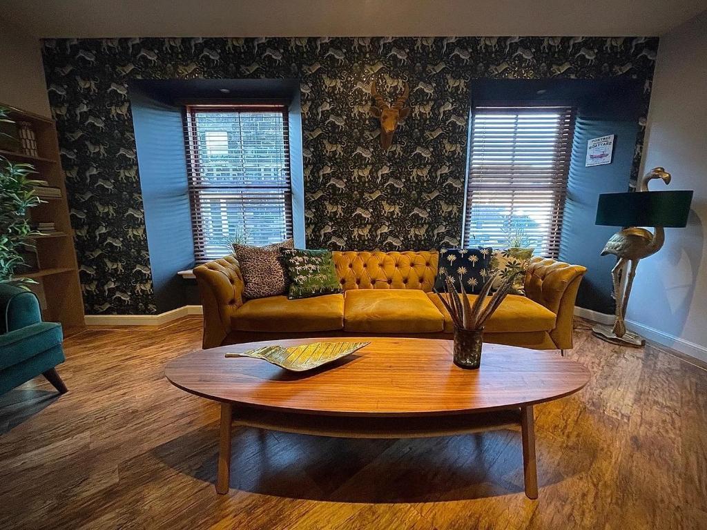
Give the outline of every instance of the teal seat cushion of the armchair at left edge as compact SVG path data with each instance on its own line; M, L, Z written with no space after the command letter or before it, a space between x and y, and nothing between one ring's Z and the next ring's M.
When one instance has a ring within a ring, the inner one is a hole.
M38 322L0 335L0 370L28 360L62 343L62 326Z

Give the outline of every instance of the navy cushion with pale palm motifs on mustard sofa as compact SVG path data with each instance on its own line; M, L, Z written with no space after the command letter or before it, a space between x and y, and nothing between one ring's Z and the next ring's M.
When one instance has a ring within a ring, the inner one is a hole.
M440 259L435 278L435 288L443 293L447 290L445 277L452 276L457 292L461 292L460 276L464 290L469 294L478 294L481 285L491 274L491 247L473 249L440 249Z

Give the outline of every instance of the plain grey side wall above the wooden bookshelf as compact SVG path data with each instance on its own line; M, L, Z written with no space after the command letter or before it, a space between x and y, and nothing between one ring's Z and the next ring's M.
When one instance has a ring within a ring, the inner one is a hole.
M40 40L0 21L0 103L51 116Z

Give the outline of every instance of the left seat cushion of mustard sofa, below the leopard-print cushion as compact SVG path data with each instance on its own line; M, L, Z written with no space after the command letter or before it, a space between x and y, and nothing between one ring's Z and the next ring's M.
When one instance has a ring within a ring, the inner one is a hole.
M231 327L238 331L334 331L344 327L344 295L248 300L233 314Z

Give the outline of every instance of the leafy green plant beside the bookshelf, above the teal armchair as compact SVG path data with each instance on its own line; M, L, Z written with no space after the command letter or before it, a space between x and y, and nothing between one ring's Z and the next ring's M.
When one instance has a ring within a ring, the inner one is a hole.
M0 119L9 119L7 109L0 108ZM40 234L27 216L29 208L42 202L35 194L38 182L30 178L34 173L30 164L0 157L0 283L33 283L14 275L25 264L23 250L33 248L31 238Z

